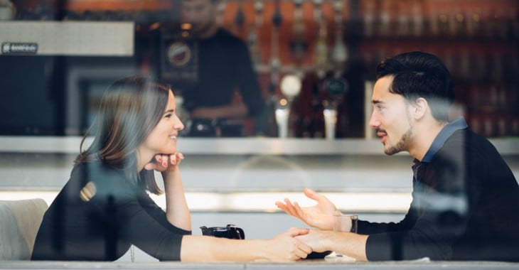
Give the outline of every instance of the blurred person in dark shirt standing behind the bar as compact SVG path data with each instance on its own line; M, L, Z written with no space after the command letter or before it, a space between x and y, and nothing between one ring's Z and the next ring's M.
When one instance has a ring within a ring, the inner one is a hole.
M183 90L191 119L255 117L264 100L247 45L215 22L216 0L181 1L182 21L198 41L198 81ZM233 102L239 90L239 102Z

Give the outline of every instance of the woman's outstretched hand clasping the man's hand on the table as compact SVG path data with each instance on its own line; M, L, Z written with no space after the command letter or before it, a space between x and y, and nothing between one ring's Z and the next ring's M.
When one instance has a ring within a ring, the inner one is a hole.
M296 261L306 258L311 247L295 237L307 234L309 229L290 228L287 232L269 239L265 252L269 261Z

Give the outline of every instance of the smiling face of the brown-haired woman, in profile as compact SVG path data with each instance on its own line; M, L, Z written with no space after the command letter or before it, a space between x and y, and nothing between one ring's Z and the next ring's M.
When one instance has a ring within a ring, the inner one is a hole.
M168 105L157 124L146 140L139 147L141 154L156 155L158 153L176 153L176 137L178 131L184 128L182 121L176 115L175 97L169 91Z

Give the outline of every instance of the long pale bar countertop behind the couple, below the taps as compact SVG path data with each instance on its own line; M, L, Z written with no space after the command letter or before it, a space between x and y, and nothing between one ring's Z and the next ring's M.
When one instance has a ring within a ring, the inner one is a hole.
M80 136L0 136L0 153L78 153ZM503 156L519 154L519 138L493 138L490 141ZM86 140L86 145L92 138ZM186 138L178 147L198 155L380 155L378 139L278 139L269 137ZM405 155L405 153L402 153Z

